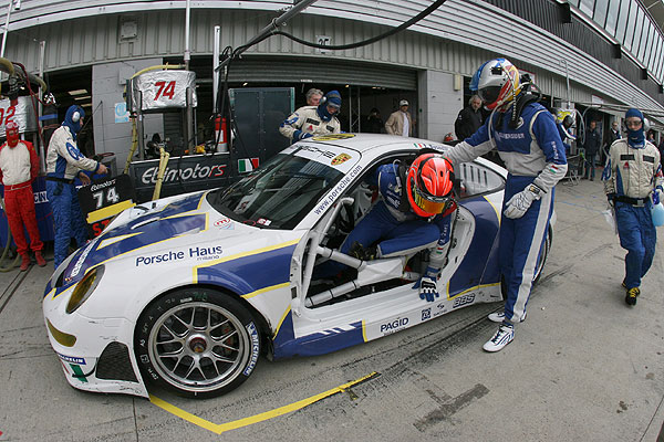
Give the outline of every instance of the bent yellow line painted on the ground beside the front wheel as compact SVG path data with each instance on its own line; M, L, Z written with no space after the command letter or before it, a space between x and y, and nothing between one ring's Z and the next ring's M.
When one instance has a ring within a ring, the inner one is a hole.
M207 420L205 420L203 418L199 418L199 417L197 417L195 414L191 414L188 411L185 411L185 410L183 410L180 408L177 408L177 407L175 407L175 406L173 406L173 404L170 404L170 403L168 403L168 402L166 402L166 401L164 401L164 400L162 400L162 399L159 399L159 398L157 398L156 396L153 396L153 394L149 396L149 401L152 403L154 403L155 406L159 407L160 409L163 409L163 410L165 410L165 411L167 411L167 412L169 412L172 414L175 414L175 415L177 415L180 419L184 419L184 420L186 420L186 421L188 421L188 422L190 422L190 423L193 423L195 425L198 425L200 428L209 430L212 433L221 434L221 433L224 433L226 431L229 431L229 430L236 430L236 429L239 429L239 428L242 428L242 427L251 425L252 423L258 423L258 422L267 421L269 419L277 418L279 415L283 415L283 414L287 414L287 413L300 410L300 409L302 409L302 408L304 408L307 406L310 406L310 404L312 404L314 402L320 401L321 399L324 399L324 398L328 398L330 396L340 393L340 392L342 392L344 390L347 390L349 388L351 388L351 387L353 387L353 386L355 386L355 385L357 385L357 383L360 383L362 381L369 380L369 379L371 379L371 378L373 378L373 377L375 377L377 375L378 373L374 371L374 372L372 372L370 375L363 376L360 379L356 379L354 381L344 383L343 386L339 386L339 387L335 387L335 388L333 388L331 390L328 390L328 391L324 391L322 393L312 396L311 398L302 399L301 401L293 402L293 403L288 404L288 406L279 407L279 408L276 408L276 409L270 410L270 411L266 411L266 412L260 413L260 414L251 415L249 418L238 419L237 421L231 421L231 422L226 422L226 423L212 423L212 422L207 421Z

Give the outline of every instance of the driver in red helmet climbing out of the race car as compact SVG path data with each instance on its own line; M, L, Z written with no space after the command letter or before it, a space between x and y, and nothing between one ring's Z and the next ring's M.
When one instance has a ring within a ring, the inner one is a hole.
M396 161L380 166L367 181L378 188L381 201L349 234L341 252L371 260L428 245L429 265L413 288L419 288L422 299L434 302L449 246L450 214L457 208L452 164L439 154L423 154L407 169Z

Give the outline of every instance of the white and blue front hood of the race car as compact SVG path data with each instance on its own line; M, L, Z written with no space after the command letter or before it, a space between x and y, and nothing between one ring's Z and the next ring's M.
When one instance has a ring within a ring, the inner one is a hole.
M136 266L146 260L177 260L180 253L195 253L196 256L211 256L221 253L224 242L248 233L261 234L261 230L231 219L215 211L205 200L205 193L194 193L180 199L169 199L138 215L122 213L123 221L113 223L112 229L79 249L62 275L62 285L76 283L85 272L112 260L135 257ZM185 239L186 236L186 239ZM154 257L151 254L164 250L167 255ZM181 251L183 246L190 250ZM184 256L184 255L183 255ZM143 261L142 261L143 260Z

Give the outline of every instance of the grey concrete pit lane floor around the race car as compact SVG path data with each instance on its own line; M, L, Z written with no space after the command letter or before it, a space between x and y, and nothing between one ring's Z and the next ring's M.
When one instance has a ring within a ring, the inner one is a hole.
M70 388L41 315L52 263L0 274L0 441L661 441L664 229L630 308L604 208L601 182L558 186L544 273L501 352L481 350L500 305L471 306L332 355L263 358L221 398L153 391L170 411Z

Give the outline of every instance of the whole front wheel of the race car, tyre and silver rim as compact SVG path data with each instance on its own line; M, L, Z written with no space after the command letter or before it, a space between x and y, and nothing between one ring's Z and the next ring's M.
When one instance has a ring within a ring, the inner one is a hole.
M261 351L258 323L230 295L181 288L154 301L134 334L144 379L188 398L211 398L240 386Z

